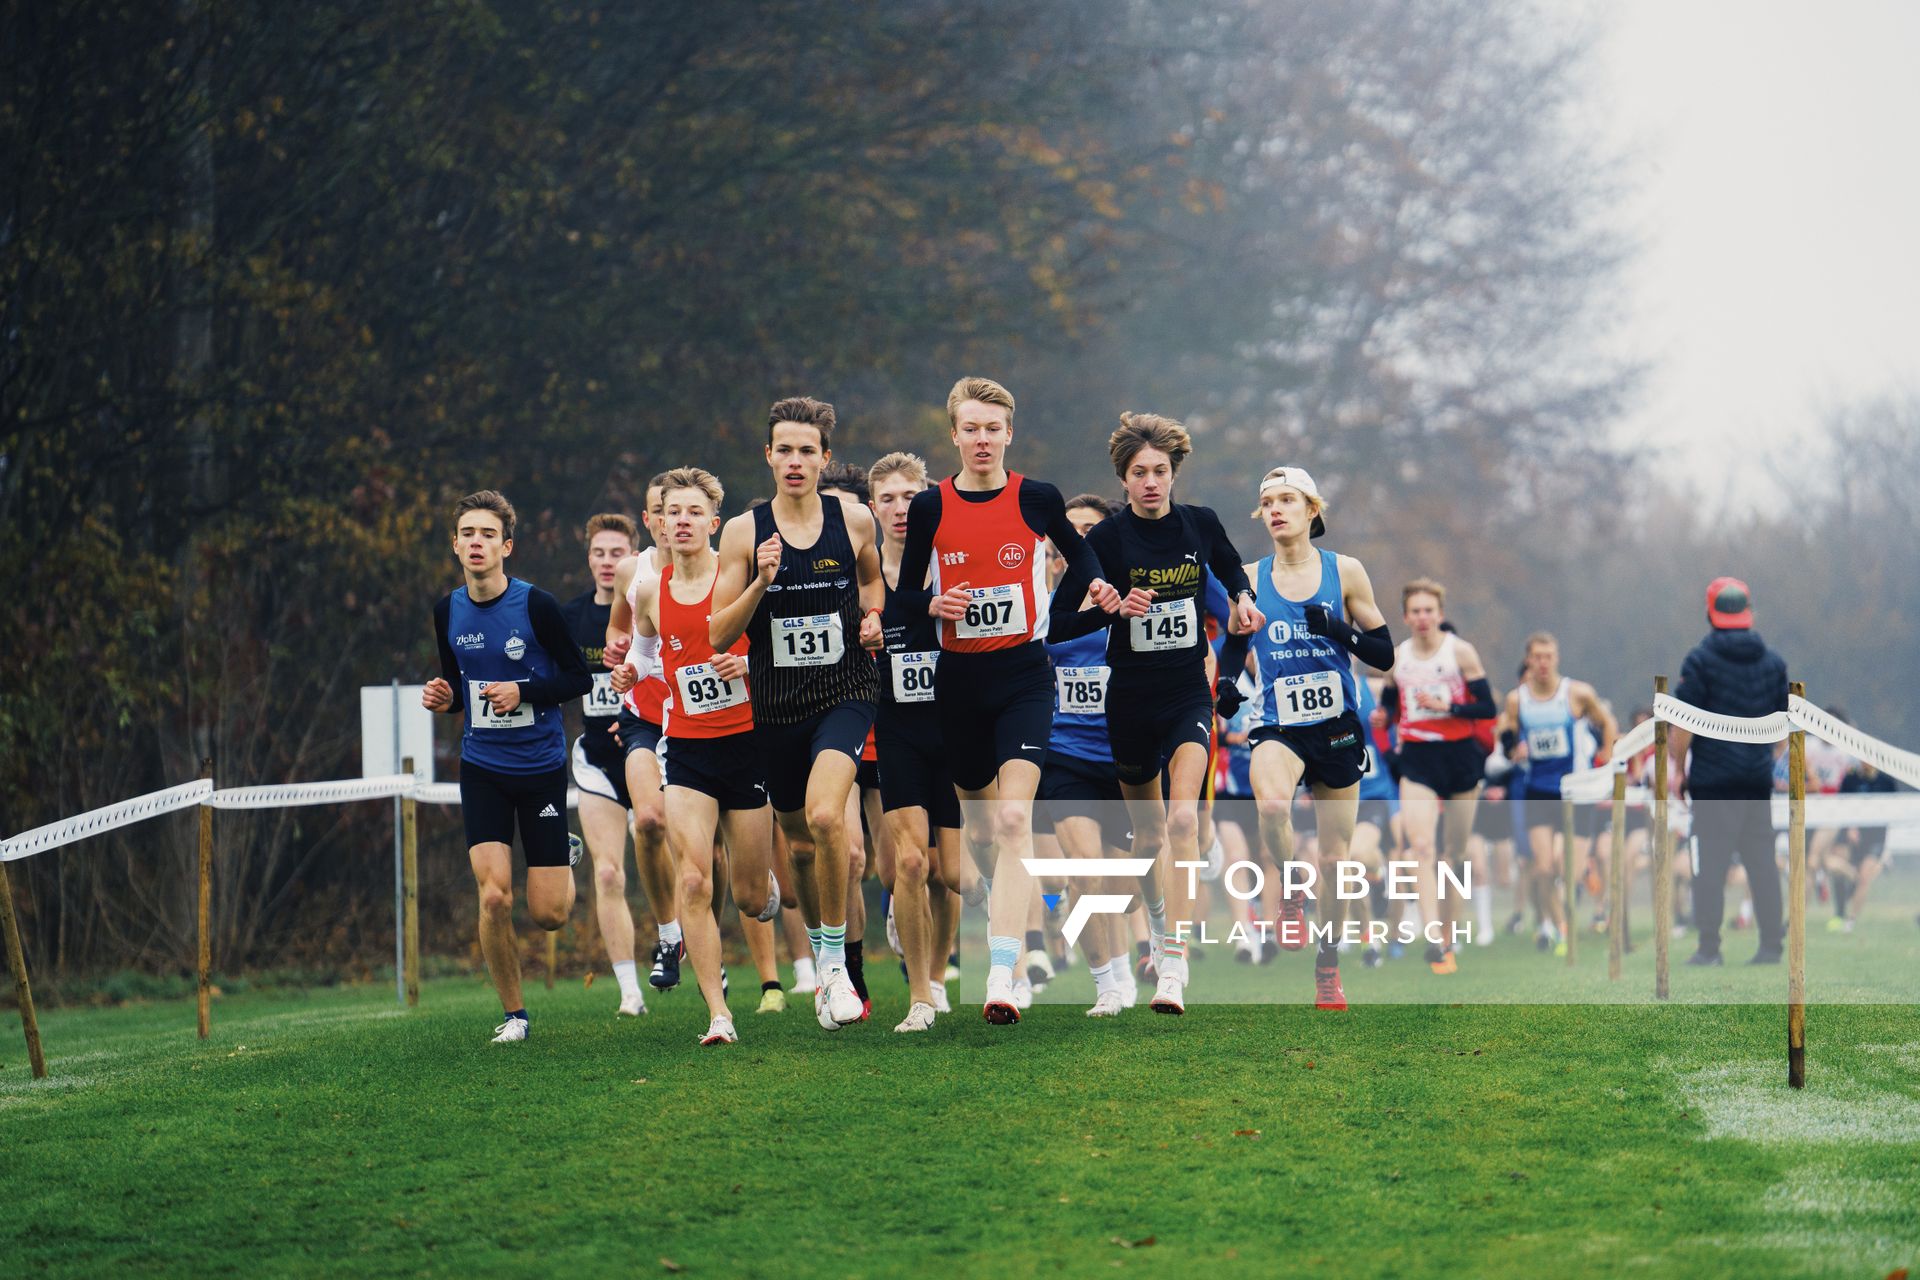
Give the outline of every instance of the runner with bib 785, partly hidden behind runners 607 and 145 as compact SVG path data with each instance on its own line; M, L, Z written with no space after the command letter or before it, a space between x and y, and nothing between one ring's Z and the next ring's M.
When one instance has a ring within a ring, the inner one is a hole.
M1068 499L1068 520L1085 537L1114 507L1094 493ZM1066 576L1066 558L1048 557L1054 589ZM1114 668L1106 660L1106 629L1068 641L1048 641L1046 660L1054 668L1054 727L1046 737L1046 764L1041 766L1043 825L1050 825L1060 852L1068 858L1123 858L1131 846L1127 798L1114 773L1114 747L1106 735L1106 691ZM1165 902L1158 879L1140 885L1121 879L1081 877L1075 894L1133 894L1140 890L1156 931L1165 931ZM1094 915L1081 929L1081 956L1092 975L1094 1000L1087 1017L1116 1017L1139 1000L1139 984L1127 958L1123 915ZM1129 998L1129 990L1133 998Z

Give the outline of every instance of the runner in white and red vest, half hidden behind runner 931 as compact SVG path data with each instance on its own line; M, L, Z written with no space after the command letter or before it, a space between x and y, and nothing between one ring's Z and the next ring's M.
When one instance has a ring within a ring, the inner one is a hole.
M660 476L647 482L647 512L641 524L651 547L637 551L614 570L612 606L607 616L607 641L601 662L614 668L626 660L634 643L634 599L641 587L649 587L666 564L660 547ZM657 990L680 986L680 961L687 948L680 935L680 877L674 871L674 858L666 850L666 800L660 793L660 725L666 720L666 681L660 677L657 654L659 641L647 641L645 656L649 676L634 685L620 699L620 712L614 718L614 731L626 760L626 796L634 810L634 867L639 871L639 889L647 894L653 910L657 938L653 944L653 965L647 983ZM609 887L611 892L611 887ZM626 896L622 885L620 896ZM605 931L605 923L601 925Z

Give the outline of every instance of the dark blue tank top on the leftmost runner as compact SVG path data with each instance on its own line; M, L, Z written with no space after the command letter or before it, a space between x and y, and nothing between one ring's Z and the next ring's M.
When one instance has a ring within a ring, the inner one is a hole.
M495 716L480 697L484 685L559 674L553 656L534 637L526 612L530 591L528 583L509 578L507 591L486 604L474 604L467 587L447 597L447 645L467 685L461 691L467 699L461 760L499 773L543 773L566 764L566 725L559 706L520 702L511 714Z

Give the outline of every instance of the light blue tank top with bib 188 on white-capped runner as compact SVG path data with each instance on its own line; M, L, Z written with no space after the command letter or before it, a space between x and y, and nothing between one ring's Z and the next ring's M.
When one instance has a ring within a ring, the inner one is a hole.
M1325 635L1308 631L1308 604L1323 604L1332 618L1346 618L1340 601L1340 557L1321 551L1321 581L1304 601L1273 589L1273 557L1254 566L1254 604L1267 629L1254 641L1256 676L1252 725L1309 725L1332 720L1359 704L1354 693L1354 660Z

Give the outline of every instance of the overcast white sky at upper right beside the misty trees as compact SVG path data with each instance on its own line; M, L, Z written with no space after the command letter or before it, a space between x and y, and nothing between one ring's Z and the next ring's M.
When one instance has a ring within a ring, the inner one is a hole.
M1592 12L1580 6L1582 12ZM1822 403L1920 388L1920 0L1603 0L1644 242L1628 441L1768 501Z

